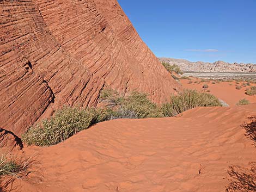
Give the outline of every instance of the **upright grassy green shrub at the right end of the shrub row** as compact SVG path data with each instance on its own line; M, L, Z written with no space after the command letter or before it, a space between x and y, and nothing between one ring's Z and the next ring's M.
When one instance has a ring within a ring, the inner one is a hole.
M188 109L213 106L221 106L215 96L196 90L184 90L179 95L171 96L170 102L162 105L162 112L164 116L175 116Z

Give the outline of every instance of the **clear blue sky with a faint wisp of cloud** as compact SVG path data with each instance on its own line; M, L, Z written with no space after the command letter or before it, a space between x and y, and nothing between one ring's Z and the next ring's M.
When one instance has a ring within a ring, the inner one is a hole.
M256 0L118 0L157 57L256 63Z

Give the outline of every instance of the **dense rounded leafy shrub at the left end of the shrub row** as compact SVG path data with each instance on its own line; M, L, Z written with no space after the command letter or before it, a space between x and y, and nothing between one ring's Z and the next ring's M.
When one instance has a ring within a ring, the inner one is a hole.
M87 129L95 120L95 110L63 107L53 117L42 120L22 135L28 145L56 145L77 132Z

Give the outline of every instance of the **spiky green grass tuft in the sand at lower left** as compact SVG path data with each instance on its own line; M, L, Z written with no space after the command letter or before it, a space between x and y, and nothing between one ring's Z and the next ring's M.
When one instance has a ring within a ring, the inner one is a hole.
M29 160L21 160L8 154L0 156L0 177L5 175L20 177L25 174L31 162Z

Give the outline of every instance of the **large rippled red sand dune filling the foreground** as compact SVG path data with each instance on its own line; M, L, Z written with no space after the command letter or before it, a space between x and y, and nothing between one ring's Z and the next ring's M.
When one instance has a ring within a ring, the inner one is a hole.
M230 165L256 160L244 107L196 108L179 117L99 123L52 147L25 147L38 161L24 192L224 191ZM40 168L40 169L39 169Z

